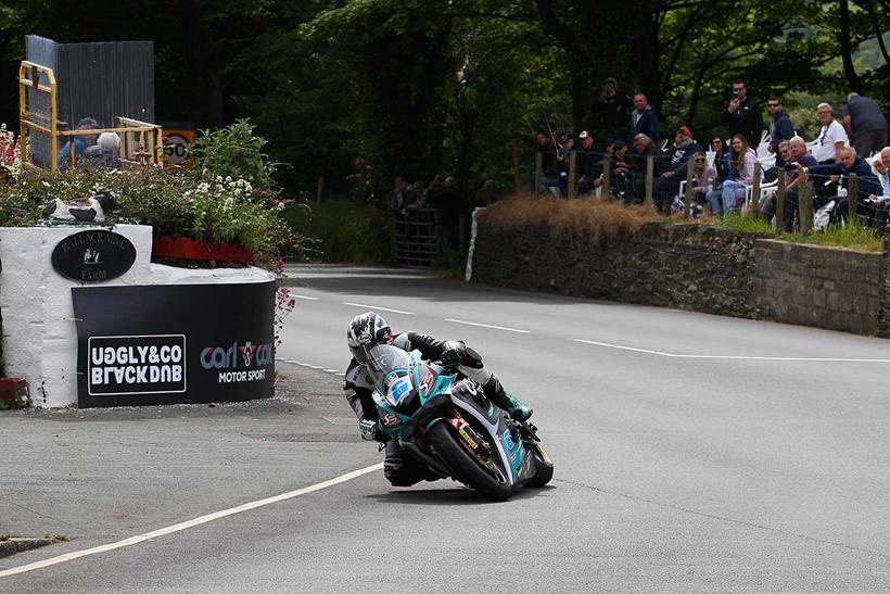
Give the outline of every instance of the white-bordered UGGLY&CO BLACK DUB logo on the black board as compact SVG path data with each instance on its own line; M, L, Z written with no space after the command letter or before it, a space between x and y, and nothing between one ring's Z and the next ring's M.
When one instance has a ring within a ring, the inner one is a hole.
M87 349L90 395L186 391L185 334L90 337Z

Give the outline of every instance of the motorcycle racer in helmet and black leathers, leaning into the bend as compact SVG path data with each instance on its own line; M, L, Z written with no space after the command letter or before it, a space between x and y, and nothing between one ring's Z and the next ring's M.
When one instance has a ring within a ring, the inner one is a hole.
M393 486L409 486L424 479L436 480L440 477L410 456L403 455L398 442L389 440L380 428L377 407L371 396L374 380L366 368L368 353L372 346L392 344L407 352L416 349L427 359L440 361L446 366L457 365L462 376L479 383L485 396L507 410L511 417L517 420L527 420L532 416L532 409L507 392L497 376L485 369L482 356L462 341L436 340L418 332L393 334L383 316L374 312L367 312L352 319L346 331L346 342L353 358L346 368L343 391L349 406L358 417L361 438L367 441L386 443L383 473Z

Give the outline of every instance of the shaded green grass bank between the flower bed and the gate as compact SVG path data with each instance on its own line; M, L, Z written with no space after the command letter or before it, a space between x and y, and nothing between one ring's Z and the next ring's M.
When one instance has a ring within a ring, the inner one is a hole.
M386 219L374 204L352 197L325 197L309 208L291 208L291 227L316 240L313 249L323 262L389 264L392 260Z

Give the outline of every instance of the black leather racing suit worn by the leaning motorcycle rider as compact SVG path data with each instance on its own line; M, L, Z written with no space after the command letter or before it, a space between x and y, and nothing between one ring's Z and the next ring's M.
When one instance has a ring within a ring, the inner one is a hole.
M447 347L446 343L454 344L452 341L436 340L431 336L417 332L397 334L392 341L394 346L405 351L420 351L423 358L430 361L438 361L442 357L442 353ZM479 353L467 347L462 342L459 344L461 347L461 357L458 371L482 386L486 394L488 394L490 391L492 391L492 393L503 393L504 388L500 386L500 381L494 374L485 369ZM349 361L349 366L346 368L343 391L346 393L346 400L349 402L349 406L352 406L355 415L358 417L361 438L368 441L384 440L385 438L377 424L377 406L374 406L373 399L371 397L373 380L367 369L356 362L355 358ZM409 486L424 479L436 480L438 478L437 475L424 465L415 460L411 456L405 455L396 440L386 442L383 473L393 486Z

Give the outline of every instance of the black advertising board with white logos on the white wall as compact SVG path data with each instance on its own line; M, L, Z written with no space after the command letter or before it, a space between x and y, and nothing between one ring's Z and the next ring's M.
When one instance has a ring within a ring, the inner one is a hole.
M74 287L80 407L275 393L275 282Z

